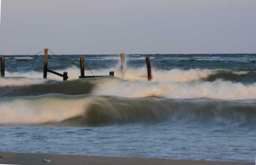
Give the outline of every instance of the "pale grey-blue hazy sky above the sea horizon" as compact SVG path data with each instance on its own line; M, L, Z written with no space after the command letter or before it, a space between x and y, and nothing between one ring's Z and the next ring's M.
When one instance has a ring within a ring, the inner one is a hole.
M0 55L256 53L256 0L2 0Z

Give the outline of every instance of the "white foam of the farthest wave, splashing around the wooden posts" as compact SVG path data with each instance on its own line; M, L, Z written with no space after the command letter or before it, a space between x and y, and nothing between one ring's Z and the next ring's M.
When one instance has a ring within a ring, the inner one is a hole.
M63 70L54 70L58 73L68 72L69 80L75 80L80 76L80 69L76 66L69 67ZM98 76L107 76L110 71L115 72L115 77L122 78L123 80L129 81L147 81L147 68L129 68L125 67L123 74L120 72L120 65L115 67L101 70L92 70L95 75ZM231 71L231 70L219 70L219 69L190 69L190 70L157 70L152 69L152 81L153 82L187 82L201 80L202 78L207 78L210 75L216 74L219 71L223 72L232 72L233 74L247 74L245 71ZM86 76L92 76L89 70L85 70ZM43 72L6 72L6 77L27 77L27 78L43 78ZM56 76L52 73L47 73L47 78L50 80L61 81L63 78Z

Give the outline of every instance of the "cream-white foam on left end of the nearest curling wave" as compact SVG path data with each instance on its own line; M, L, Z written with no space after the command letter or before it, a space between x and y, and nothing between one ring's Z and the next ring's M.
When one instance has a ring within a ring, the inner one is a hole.
M60 122L83 115L90 98L42 97L0 102L0 124L40 124Z

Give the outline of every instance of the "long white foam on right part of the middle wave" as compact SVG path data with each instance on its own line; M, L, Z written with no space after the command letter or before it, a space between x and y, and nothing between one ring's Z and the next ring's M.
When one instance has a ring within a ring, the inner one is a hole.
M119 79L99 80L95 95L113 95L124 98L164 97L169 99L209 98L223 100L256 99L256 83L244 85L231 81L213 82L138 82Z

